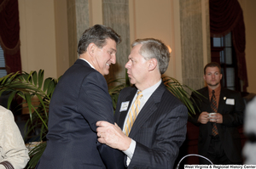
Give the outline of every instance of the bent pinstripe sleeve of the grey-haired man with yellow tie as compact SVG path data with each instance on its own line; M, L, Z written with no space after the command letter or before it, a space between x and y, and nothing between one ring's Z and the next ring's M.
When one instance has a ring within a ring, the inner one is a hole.
M137 142L129 167L172 168L187 132L188 110L180 104L160 122L152 148Z

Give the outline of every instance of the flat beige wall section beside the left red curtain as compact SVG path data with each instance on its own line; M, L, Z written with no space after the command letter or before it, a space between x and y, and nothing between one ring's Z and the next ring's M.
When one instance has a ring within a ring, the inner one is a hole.
M57 76L55 8L52 0L19 0L22 70Z

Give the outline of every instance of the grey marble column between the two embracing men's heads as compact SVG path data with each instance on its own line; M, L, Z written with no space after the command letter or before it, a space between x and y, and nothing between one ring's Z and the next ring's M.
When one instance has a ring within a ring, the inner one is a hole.
M110 66L109 78L125 78L125 64L131 51L129 1L102 0L103 24L113 28L122 38L117 46L116 64Z

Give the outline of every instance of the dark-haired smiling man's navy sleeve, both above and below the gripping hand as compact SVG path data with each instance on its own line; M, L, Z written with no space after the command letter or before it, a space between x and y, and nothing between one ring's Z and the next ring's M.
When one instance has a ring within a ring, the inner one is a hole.
M98 72L86 76L80 89L79 112L89 122L90 128L96 132L97 121L108 121L113 124L113 106L108 93L105 78ZM118 149L96 142L97 149L105 166L110 169L124 167L124 155Z

